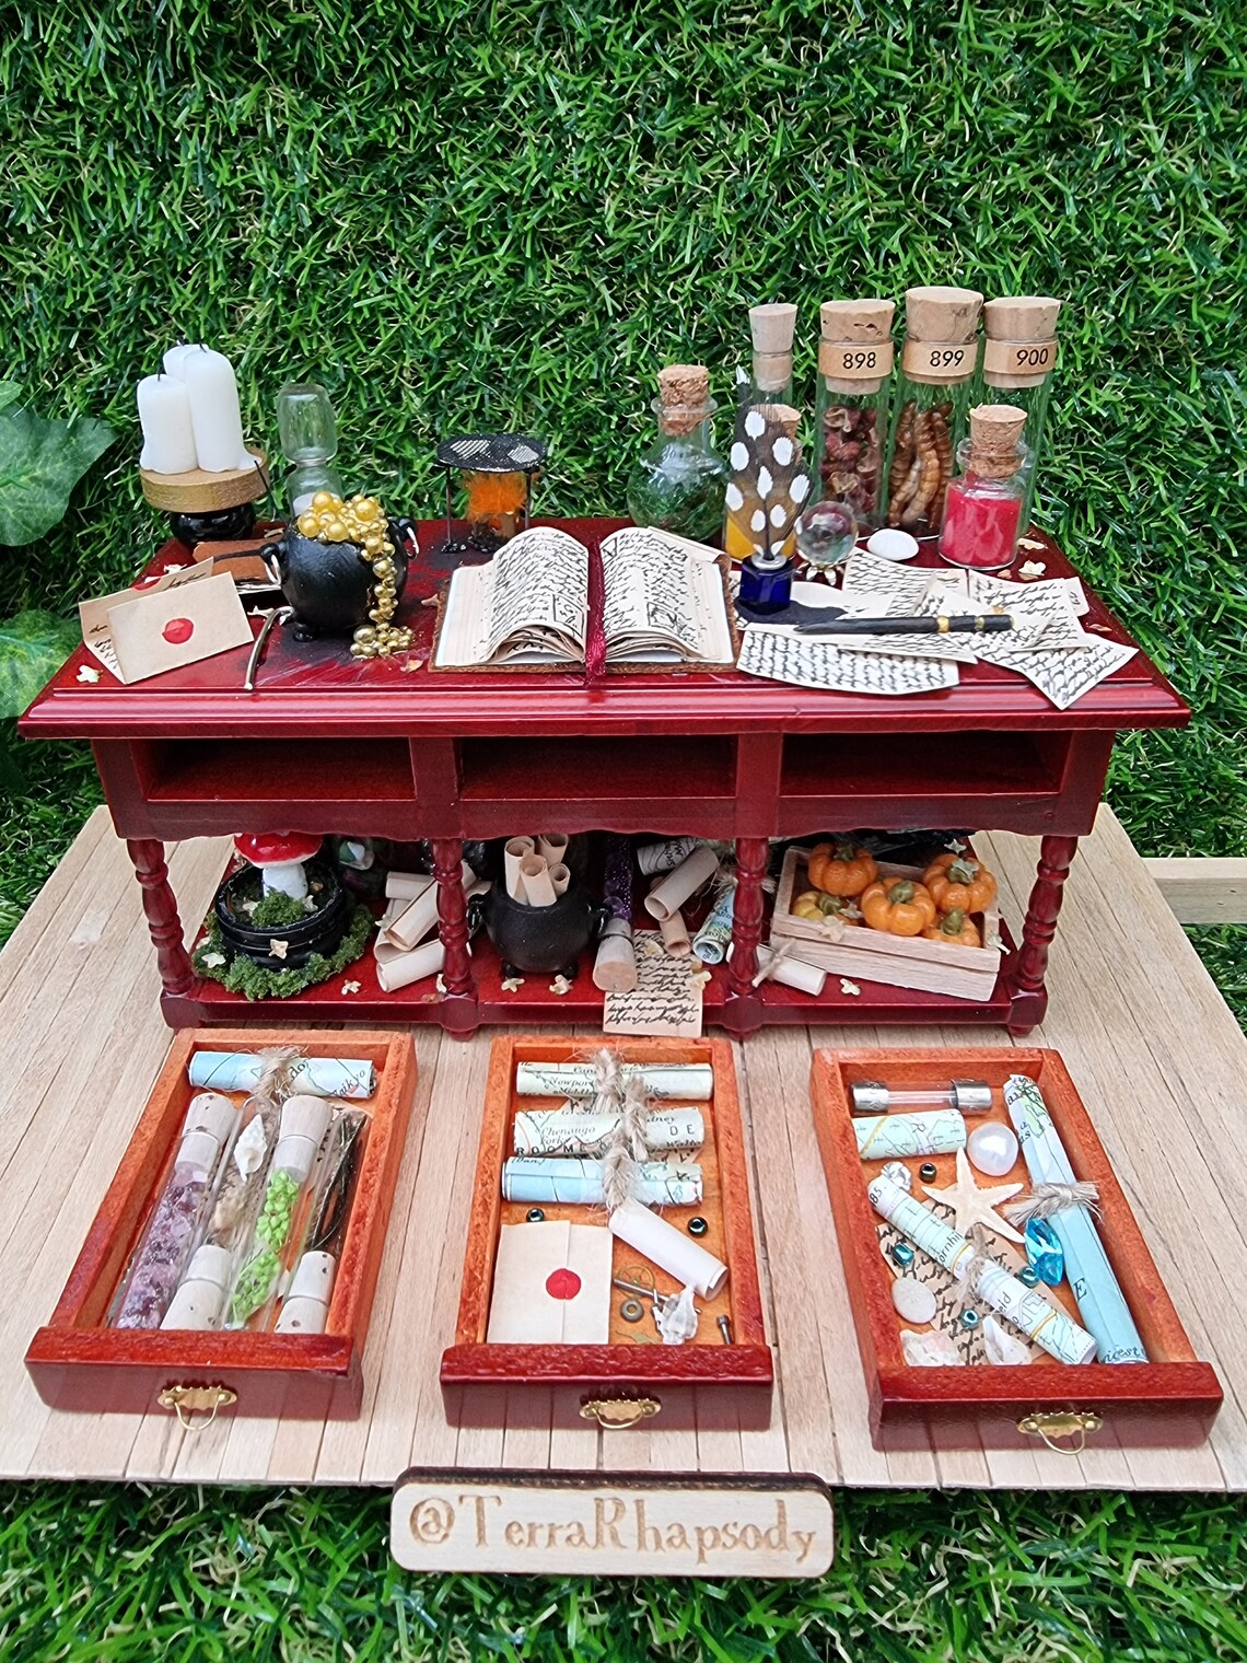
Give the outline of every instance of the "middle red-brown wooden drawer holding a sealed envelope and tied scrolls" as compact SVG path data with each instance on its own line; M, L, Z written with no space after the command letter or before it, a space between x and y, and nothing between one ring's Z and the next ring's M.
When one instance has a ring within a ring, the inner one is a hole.
M442 1352L441 1380L447 1415L459 1424L497 1425L507 1404L522 1402L525 1394L537 1399L550 1385L574 1385L580 1389L580 1410L592 1404L607 1405L599 1415L604 1425L610 1424L610 1405L642 1399L657 1404L657 1410L650 1410L647 1419L660 1415L663 1427L692 1425L692 1389L715 1387L725 1397L730 1395L732 1407L743 1422L765 1425L770 1417L773 1367L762 1317L732 1046L727 1039L628 1039L612 1041L612 1049L625 1063L710 1063L713 1068L713 1099L698 1103L705 1116L705 1144L698 1156L705 1194L695 1207L665 1207L663 1217L683 1226L700 1212L710 1226L700 1246L727 1264L728 1279L713 1299L697 1300L702 1314L698 1330L685 1345L637 1344L635 1329L619 1319L617 1312L612 1314L607 1345L485 1342L499 1231L502 1224L520 1222L527 1212L525 1202L502 1201L500 1174L502 1162L514 1152L514 1116L519 1108L557 1108L560 1101L519 1098L515 1064L565 1063L585 1056L584 1039L495 1039L472 1187L459 1322L454 1345ZM587 1221L585 1207L544 1204L544 1212L547 1219ZM622 1274L625 1266L637 1264L638 1259L633 1247L617 1241L614 1274ZM675 1279L663 1271L653 1267L653 1277L663 1294L678 1292ZM718 1330L720 1315L732 1322L730 1345ZM456 1387L464 1390L454 1390ZM499 1394L497 1387L505 1387L505 1392ZM628 1412L620 1414L627 1419Z

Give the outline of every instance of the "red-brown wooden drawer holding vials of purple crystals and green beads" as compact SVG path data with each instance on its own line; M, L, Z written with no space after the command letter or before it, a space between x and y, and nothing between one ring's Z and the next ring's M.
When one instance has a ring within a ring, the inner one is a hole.
M161 1194L196 1091L186 1078L191 1054L281 1044L298 1044L309 1056L366 1058L377 1071L374 1096L351 1104L369 1113L371 1128L324 1334L108 1327L108 1309ZM214 1389L233 1392L234 1402L223 1409L229 1415L357 1415L361 1354L414 1093L416 1053L409 1034L253 1028L180 1034L57 1309L27 1350L27 1369L43 1402L53 1409L136 1412L170 1407L160 1404L161 1394L181 1385L201 1387L208 1397Z

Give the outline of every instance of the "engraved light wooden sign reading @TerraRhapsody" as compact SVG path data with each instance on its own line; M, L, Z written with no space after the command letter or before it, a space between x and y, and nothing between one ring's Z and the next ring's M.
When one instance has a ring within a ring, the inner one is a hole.
M821 1577L831 1492L813 1477L411 1468L389 1547L404 1570L594 1577Z

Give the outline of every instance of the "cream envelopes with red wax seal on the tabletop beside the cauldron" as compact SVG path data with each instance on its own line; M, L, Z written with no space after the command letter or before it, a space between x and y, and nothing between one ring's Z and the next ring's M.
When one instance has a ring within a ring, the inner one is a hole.
M126 683L251 644L233 577L213 574L206 560L141 592L85 600L78 615L86 647Z

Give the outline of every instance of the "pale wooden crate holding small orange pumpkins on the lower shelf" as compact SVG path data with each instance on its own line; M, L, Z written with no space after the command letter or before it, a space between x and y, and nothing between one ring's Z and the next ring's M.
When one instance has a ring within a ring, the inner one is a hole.
M919 993L946 993L954 999L989 999L1001 970L1001 948L988 946L1001 940L1001 915L996 908L976 913L983 946L956 946L926 941L923 936L893 936L866 925L840 925L828 920L793 915L793 898L811 888L806 866L811 850L788 848L783 856L780 886L771 913L771 946L793 943L796 956L836 976L881 981L891 988L916 988ZM880 861L881 878L921 880L919 866L896 866Z

